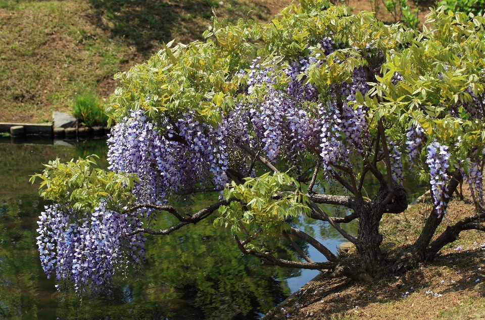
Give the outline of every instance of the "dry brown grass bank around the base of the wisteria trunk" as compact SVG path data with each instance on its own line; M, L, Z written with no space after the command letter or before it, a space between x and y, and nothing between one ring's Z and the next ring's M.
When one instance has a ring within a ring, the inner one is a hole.
M474 206L467 190L464 191L464 201L454 198L450 202L446 217L449 221L443 221L438 235L446 226L473 213ZM381 249L387 258L416 240L431 207L429 200L425 198L401 215L385 215L380 231L384 236ZM321 275L298 300L289 302L284 310L273 310L266 318L485 318L485 248L480 245L483 242L485 235L481 232L462 232L460 239L445 246L433 261L420 263L401 276L387 272L372 283L325 280ZM455 250L459 246L462 249ZM354 257L355 252L350 252L349 258Z

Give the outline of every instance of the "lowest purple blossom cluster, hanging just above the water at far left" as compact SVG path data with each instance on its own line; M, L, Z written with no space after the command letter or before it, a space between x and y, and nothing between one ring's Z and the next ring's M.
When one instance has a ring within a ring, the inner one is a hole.
M108 210L105 202L91 215L61 204L45 209L37 222L37 245L48 278L55 274L58 281L71 280L76 291L96 289L109 285L122 265L141 267L146 239L125 236L141 225L137 215Z

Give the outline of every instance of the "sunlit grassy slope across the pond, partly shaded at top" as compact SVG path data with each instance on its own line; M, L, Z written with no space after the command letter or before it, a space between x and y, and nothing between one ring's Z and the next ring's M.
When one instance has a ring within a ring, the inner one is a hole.
M201 39L220 18L268 21L290 1L0 0L0 122L45 122L88 90L107 98L112 80L162 42Z

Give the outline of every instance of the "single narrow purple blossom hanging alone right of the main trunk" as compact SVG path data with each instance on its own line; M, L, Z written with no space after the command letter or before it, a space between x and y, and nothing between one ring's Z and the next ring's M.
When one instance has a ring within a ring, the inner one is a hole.
M427 146L428 154L426 164L429 166L429 172L431 175L431 192L433 194L434 205L437 210L437 214L441 217L446 213L447 204L445 199L449 197L446 191L448 188L448 159L450 158L450 152L446 145L441 145L438 141L434 141Z

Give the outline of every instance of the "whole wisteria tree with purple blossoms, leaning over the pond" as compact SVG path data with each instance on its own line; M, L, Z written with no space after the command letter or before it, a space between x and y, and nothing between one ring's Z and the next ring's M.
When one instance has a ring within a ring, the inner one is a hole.
M205 42L168 43L116 75L110 171L86 158L51 162L37 175L55 203L38 223L47 274L77 290L108 285L126 265L141 268L144 235L210 215L264 264L365 281L389 263L406 271L463 230L485 230L483 17L432 10L417 32L302 0L269 24L213 20ZM379 222L407 208L402 161L429 181L434 207L417 241L389 262ZM380 187L363 196L369 176ZM463 181L476 212L435 235ZM174 208L197 192L219 192L220 201L193 215ZM321 204L348 214L329 215ZM154 230L157 215L178 223ZM328 222L355 244L361 265L292 227L299 215ZM354 220L357 235L342 228ZM305 261L275 255L283 238ZM327 261L312 261L295 238Z

